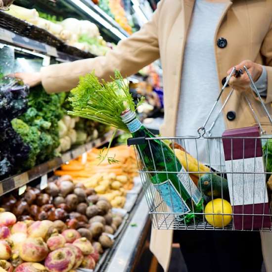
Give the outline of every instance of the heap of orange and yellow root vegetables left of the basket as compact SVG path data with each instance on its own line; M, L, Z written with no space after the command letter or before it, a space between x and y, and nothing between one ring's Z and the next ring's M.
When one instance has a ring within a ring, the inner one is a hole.
M110 201L112 207L123 208L126 202L126 192L134 186L137 176L135 152L132 147L121 145L110 148L109 156L114 156L117 163L109 164L104 159L99 164L98 155L102 149L92 149L87 153L86 161L82 157L61 166L54 173L57 176L69 175L73 182L84 184L94 189L97 195ZM92 207L94 209L94 207Z

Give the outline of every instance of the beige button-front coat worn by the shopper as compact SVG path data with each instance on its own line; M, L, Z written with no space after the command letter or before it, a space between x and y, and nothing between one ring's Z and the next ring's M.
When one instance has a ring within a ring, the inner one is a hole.
M266 103L272 102L272 0L226 0L227 6L218 23L214 48L218 72L218 90L227 70L249 59L266 65L268 93ZM181 86L181 68L186 33L194 0L161 0L153 18L127 40L120 42L106 56L79 60L74 63L52 65L42 69L42 82L47 92L69 91L78 83L79 76L95 70L99 78L109 80L114 70L123 76L136 73L145 65L160 58L163 68L165 119L161 128L163 136L175 136L177 111ZM227 40L227 46L217 45L219 38ZM195 79L197 80L197 79ZM199 85L201 88L201 85ZM229 88L223 93L225 100ZM205 94L204 94L205 95ZM272 134L260 102L250 95L251 103L266 131ZM269 105L271 111L271 106ZM228 111L235 111L236 118L228 121ZM255 122L244 97L234 91L224 109L228 128L252 126ZM168 270L171 246L171 230L154 230L150 249L165 271ZM263 252L268 272L272 272L272 235L262 234ZM270 242L271 241L271 242Z

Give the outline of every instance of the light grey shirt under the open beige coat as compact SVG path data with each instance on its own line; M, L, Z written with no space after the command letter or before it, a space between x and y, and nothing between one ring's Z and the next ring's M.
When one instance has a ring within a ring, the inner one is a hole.
M197 129L205 122L219 94L221 86L218 83L214 37L225 6L226 3L195 1L183 56L177 136L197 136ZM267 89L265 69L256 84L261 88L261 95L265 95ZM219 102L206 126L207 129L210 128L221 107L222 103ZM222 136L225 129L223 113L221 113L211 131L212 136ZM198 141L198 143L198 154L196 154L195 142L188 140L185 143L188 152L195 157L198 156L202 162L209 163L208 153L216 154L216 150L220 148L219 141L210 142L209 152L207 141L203 140L202 144ZM217 156L215 160L220 162Z

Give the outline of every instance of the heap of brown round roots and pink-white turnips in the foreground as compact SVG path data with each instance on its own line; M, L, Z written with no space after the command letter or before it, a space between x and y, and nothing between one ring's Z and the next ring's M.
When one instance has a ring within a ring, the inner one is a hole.
M107 199L83 183L75 185L67 175L52 179L45 190L28 186L21 196L1 198L0 267L94 269L103 251L113 245L122 221Z

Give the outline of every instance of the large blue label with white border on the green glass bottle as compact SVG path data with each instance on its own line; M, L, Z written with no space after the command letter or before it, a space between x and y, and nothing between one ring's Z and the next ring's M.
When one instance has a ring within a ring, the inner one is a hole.
M172 181L167 180L160 184L153 184L157 189L166 205L174 213L186 214L190 212L189 207L181 198L180 193L177 191Z

